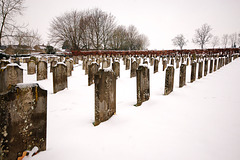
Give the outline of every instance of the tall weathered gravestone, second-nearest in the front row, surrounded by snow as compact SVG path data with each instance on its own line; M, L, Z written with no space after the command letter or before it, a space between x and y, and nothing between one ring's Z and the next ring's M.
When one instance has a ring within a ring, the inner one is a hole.
M107 121L116 113L116 75L112 70L101 69L95 74L95 122Z

